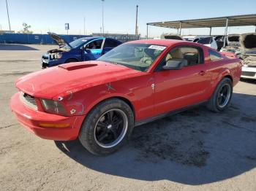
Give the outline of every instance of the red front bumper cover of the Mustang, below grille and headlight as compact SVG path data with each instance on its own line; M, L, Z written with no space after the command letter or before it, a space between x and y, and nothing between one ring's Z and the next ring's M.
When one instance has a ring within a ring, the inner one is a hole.
M27 130L42 139L68 141L78 137L84 116L64 117L56 114L39 112L25 106L19 98L20 93L15 93L10 100L10 108L15 117ZM66 128L43 128L39 124L69 124Z

